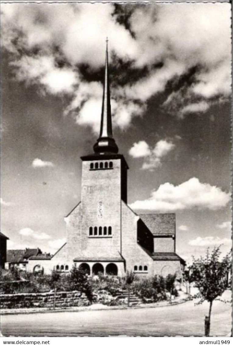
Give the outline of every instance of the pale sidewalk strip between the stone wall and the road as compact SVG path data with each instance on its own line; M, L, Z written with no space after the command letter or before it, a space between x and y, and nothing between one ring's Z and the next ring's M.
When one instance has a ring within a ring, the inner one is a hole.
M139 304L135 306L128 307L127 305L119 305L119 306L107 306L104 304L92 304L86 307L66 307L66 308L56 308L48 309L48 308L18 308L18 309L1 309L1 315L9 315L9 314L34 314L34 313L59 313L59 312L83 312L83 311L93 311L93 310L110 310L110 309L139 309L139 308L157 308L157 307L165 307L165 306L172 306L181 303L188 302L190 299L187 294L183 291L179 291L179 296L176 297L174 300L170 301L161 301L155 303L146 303L146 304Z

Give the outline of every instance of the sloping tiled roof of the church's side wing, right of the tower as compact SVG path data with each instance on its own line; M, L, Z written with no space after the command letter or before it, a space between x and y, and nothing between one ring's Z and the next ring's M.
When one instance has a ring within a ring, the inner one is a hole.
M154 236L175 235L175 213L139 214Z

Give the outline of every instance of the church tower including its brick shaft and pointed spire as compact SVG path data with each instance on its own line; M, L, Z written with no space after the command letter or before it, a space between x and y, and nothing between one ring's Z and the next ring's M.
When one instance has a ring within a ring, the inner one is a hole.
M81 157L81 203L72 211L73 221L69 220L68 252L86 260L100 256L106 260L122 260L121 200L127 203L128 165L123 155L118 154L112 133L108 43L100 136L93 150L92 154Z

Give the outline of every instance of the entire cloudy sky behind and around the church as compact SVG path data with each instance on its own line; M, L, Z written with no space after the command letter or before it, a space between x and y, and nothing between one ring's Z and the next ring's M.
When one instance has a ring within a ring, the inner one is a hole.
M1 3L1 231L54 254L99 136L105 40L114 138L137 213L176 213L176 252L231 248L231 6Z

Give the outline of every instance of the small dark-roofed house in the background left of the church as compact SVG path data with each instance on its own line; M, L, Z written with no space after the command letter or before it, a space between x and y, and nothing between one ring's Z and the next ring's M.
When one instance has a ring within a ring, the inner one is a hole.
M8 249L6 269L16 267L20 270L26 271L28 259L41 254L42 252L40 248Z

